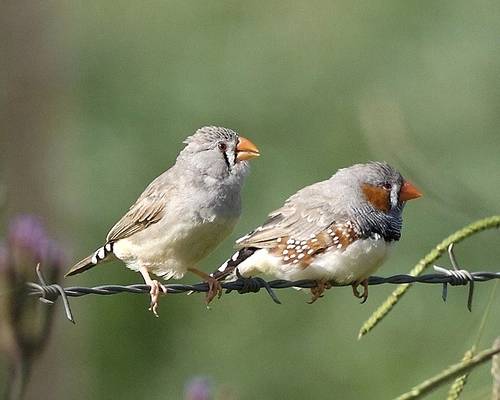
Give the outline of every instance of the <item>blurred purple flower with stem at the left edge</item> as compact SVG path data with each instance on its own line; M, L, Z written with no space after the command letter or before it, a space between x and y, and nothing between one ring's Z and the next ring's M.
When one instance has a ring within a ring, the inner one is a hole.
M0 350L9 357L11 377L7 392L21 398L34 359L43 350L52 327L54 307L39 307L26 295L26 282L36 281L40 263L49 282L62 276L65 256L41 220L31 215L15 217L7 239L0 243Z

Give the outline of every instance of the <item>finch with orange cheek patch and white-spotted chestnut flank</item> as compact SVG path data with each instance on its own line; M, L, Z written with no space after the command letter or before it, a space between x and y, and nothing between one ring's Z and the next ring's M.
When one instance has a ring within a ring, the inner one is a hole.
M269 274L312 279L314 302L330 282L351 284L365 302L368 277L401 237L403 208L422 194L385 162L356 164L291 196L267 220L239 239L238 251L212 276ZM360 293L358 287L362 285Z

